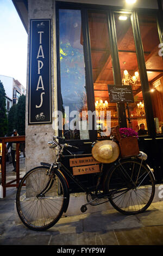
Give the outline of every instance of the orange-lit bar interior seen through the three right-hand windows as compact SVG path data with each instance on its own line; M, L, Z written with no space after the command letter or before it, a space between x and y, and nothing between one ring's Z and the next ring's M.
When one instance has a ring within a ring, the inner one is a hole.
M128 127L135 131L140 129L140 124L146 122L146 111L143 103L143 94L137 64L136 49L130 16L120 19L115 14L116 36L118 56L123 85L131 85L135 103L128 104L130 121ZM163 68L162 58L158 55L159 35L156 20L152 17L139 16L140 32L145 54L146 69L151 91L154 117L163 124ZM107 109L111 110L111 126L118 124L116 104L109 103L108 85L114 84L112 75L111 52L109 47L109 35L105 14L89 14L91 57L93 71L93 85L95 91L95 103L107 100ZM157 81L158 84L157 84ZM155 84L156 82L156 84ZM156 87L154 87L156 86ZM158 106L159 102L159 106ZM127 112L126 115L128 116ZM105 123L103 124L105 125ZM156 129L160 133L160 129Z

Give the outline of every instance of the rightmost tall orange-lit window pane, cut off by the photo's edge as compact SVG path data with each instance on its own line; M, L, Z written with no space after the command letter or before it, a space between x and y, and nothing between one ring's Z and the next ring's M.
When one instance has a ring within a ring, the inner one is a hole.
M163 62L156 18L139 14L156 133L163 133Z

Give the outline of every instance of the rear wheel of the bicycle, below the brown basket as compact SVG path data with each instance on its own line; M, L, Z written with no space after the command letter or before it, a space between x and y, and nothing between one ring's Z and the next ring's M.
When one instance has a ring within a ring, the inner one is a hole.
M125 215L144 212L151 205L155 193L155 180L151 170L137 160L123 160L106 179L106 193L110 203Z

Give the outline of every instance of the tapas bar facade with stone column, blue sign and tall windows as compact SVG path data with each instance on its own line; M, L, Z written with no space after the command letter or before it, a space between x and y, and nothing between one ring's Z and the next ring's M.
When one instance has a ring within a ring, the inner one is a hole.
M92 141L108 138L108 126L137 131L143 124L140 150L148 154L161 182L162 1L12 2L28 33L26 169L53 162L54 152L47 146L53 135L67 132L66 140L78 145L80 153L90 153ZM117 90L122 85L130 86L134 100L110 98L111 86ZM96 112L91 124L88 111ZM103 118L97 118L99 111Z

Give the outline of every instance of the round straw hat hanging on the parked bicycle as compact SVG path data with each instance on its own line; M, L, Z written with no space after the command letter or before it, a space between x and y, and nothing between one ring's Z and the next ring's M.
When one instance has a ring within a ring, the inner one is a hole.
M120 154L120 148L115 141L98 141L92 148L92 156L100 163L112 163Z

